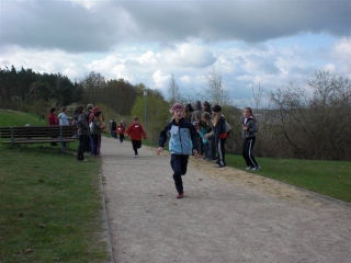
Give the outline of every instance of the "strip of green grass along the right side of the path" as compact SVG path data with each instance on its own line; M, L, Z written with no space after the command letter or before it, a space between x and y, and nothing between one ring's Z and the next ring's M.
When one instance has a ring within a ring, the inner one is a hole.
M351 202L351 162L257 158L262 167L252 173ZM226 155L228 165L244 170L241 156Z

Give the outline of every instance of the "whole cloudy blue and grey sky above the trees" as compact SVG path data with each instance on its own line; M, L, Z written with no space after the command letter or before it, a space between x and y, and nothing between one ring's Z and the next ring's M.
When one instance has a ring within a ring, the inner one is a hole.
M222 75L233 104L317 70L351 79L350 0L0 0L0 68L89 72L193 98Z

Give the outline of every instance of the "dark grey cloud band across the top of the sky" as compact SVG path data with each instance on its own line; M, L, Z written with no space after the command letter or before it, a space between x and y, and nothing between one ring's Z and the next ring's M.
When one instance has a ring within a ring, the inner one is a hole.
M1 1L1 45L109 52L123 43L350 36L349 1Z

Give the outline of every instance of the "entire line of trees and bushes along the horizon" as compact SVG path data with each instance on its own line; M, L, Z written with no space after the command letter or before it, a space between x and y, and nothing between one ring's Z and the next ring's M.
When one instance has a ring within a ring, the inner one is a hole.
M147 90L147 95L144 91ZM71 82L60 73L38 73L32 69L0 69L0 106L32 112L46 117L48 108L71 104L99 105L105 118L127 118L137 115L147 124L148 137L156 142L159 132L170 121L172 103L208 101L223 106L223 114L233 132L227 150L241 155L242 108L231 103L224 89L222 75L212 69L202 94L184 96L173 75L169 80L169 100L160 91L145 84L132 84L124 79L106 80L90 72L83 80ZM269 102L261 106L262 100ZM264 93L252 88L253 108L259 125L256 153L259 157L301 158L318 160L351 160L351 84L350 80L328 71L316 71L303 83L290 83ZM146 110L146 112L145 112Z

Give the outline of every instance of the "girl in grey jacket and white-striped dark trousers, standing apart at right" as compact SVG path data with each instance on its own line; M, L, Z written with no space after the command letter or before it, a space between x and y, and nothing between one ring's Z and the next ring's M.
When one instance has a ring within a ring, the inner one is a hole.
M244 118L242 118L242 138L244 138L244 148L242 148L242 157L246 161L247 168L246 170L259 170L261 167L254 160L252 156L252 149L256 141L257 133L256 119L252 114L252 110L250 107L244 108Z

